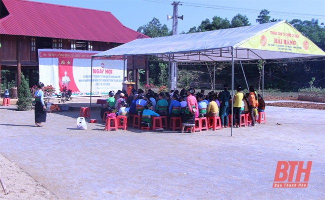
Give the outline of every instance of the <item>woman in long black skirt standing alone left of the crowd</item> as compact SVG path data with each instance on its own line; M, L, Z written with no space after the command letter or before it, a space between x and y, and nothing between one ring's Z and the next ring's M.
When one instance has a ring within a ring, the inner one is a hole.
M44 84L37 85L38 90L35 92L35 126L44 126L42 122L46 122L46 107L44 104Z

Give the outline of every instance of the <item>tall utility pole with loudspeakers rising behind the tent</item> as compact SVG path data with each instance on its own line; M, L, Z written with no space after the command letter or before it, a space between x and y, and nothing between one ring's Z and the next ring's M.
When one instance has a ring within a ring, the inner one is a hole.
M173 12L172 12L172 17L167 15L167 20L172 18L172 35L177 35L177 18L183 20L183 16L178 17L178 4L180 2L173 2L171 5L173 5ZM171 88L172 90L177 89L177 63L171 63ZM169 85L169 84L168 84ZM168 91L170 92L170 91Z

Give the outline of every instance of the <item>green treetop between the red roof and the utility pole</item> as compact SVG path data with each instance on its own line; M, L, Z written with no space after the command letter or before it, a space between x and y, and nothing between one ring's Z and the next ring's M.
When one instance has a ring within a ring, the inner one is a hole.
M169 31L166 25L161 25L159 20L153 18L151 22L146 25L143 25L137 29L137 32L140 32L150 38L171 36L172 32Z

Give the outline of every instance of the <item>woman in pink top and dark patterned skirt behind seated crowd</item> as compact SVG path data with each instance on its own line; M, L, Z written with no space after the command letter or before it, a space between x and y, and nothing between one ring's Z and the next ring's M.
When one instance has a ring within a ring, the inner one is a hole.
M192 133L194 129L195 115L198 116L198 106L194 94L195 91L193 88L189 88L187 90L187 98L186 98L187 108L185 111L184 120L182 121L182 127L181 127L182 133L184 132L185 127L190 127L190 133Z

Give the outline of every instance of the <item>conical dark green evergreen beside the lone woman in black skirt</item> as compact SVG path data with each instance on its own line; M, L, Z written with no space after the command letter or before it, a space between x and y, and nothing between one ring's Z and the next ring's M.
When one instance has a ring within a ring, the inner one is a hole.
M31 110L31 93L25 77L21 73L21 82L18 92L17 110Z

